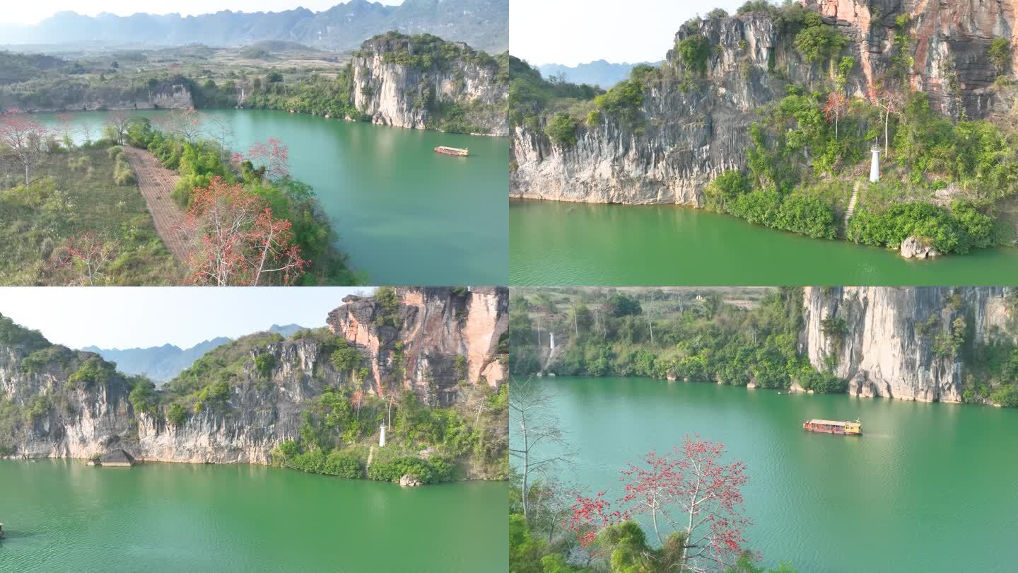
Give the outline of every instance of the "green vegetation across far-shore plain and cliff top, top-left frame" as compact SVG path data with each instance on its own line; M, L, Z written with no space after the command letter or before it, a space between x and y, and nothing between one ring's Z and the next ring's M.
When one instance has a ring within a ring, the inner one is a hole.
M397 32L367 40L383 44L386 62L409 65L421 74L413 105L428 111L429 128L452 133L487 133L504 116L505 108L480 102L442 99L436 94L435 74L452 73L464 86L463 70L453 64L489 68L495 82L509 83L509 55L492 56L456 42L429 34ZM236 55L205 46L163 51L124 51L111 56L89 56L73 61L36 54L0 52L0 108L23 110L74 110L99 102L100 107L149 107L153 102L190 95L196 108L234 107L243 94L245 107L279 109L314 115L370 121L354 104L353 63L340 64L324 53L319 65L307 66L301 46L252 46ZM295 60L272 58L266 49L295 50ZM354 51L354 55L370 51ZM252 63L251 60L256 60ZM314 59L314 57L312 57ZM278 60L278 61L277 61ZM265 65L258 62L264 61ZM300 65L296 65L296 64ZM289 64L289 65L287 65ZM370 88L365 88L370 91ZM370 95L364 93L363 95ZM163 98L159 100L158 98ZM441 100L441 101L440 101Z

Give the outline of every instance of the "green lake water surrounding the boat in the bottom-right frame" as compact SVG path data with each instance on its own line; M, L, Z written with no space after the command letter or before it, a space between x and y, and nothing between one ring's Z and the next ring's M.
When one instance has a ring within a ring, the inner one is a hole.
M772 566L1014 570L1018 411L642 378L541 383L579 454L565 477L610 501L627 462L685 434L723 442L747 466L746 536ZM863 435L807 432L808 418L859 418Z

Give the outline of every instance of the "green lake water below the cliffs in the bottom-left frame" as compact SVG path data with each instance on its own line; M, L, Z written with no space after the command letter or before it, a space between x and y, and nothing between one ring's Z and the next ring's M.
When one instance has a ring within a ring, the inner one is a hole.
M0 460L0 571L499 572L508 484Z

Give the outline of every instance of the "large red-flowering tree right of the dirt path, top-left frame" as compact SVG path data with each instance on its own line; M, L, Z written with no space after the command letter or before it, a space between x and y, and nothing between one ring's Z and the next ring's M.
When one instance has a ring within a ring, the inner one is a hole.
M194 189L183 226L196 240L189 264L195 284L289 284L310 264L293 243L290 221L220 177Z

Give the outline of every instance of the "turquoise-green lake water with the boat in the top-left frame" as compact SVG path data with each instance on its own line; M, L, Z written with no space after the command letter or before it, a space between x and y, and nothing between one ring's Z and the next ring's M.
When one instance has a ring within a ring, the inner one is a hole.
M228 146L275 137L294 178L312 185L351 266L370 284L505 284L508 138L473 137L325 119L283 111L202 110L225 117ZM137 112L156 116L161 111ZM106 113L73 114L101 133ZM46 123L53 114L41 114ZM81 136L76 135L80 140ZM469 148L470 157L435 153Z

